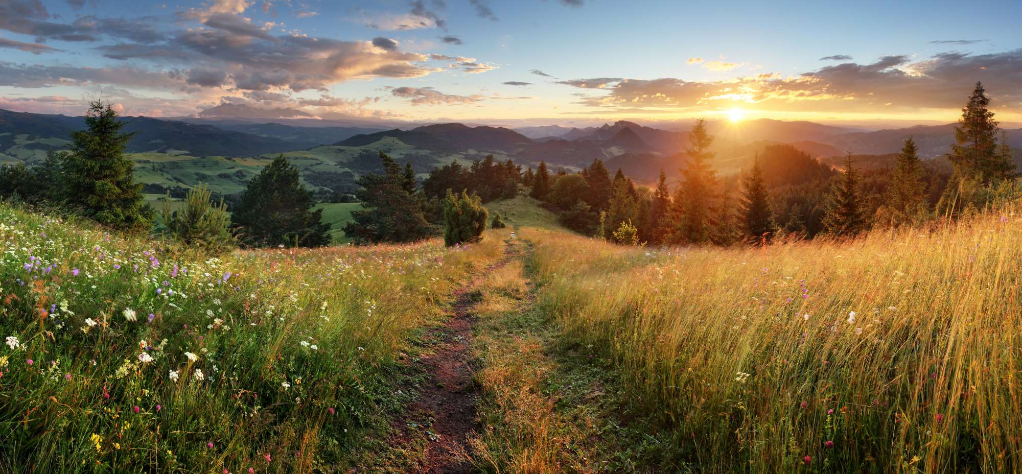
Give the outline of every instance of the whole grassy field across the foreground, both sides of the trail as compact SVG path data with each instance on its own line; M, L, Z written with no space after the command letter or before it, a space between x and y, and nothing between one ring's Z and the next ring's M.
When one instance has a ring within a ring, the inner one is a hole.
M0 204L2 459L36 472L1020 469L1017 205L762 248L617 246L525 196L487 206L514 239L210 258ZM467 431L416 401L462 390L436 378L442 356L471 368ZM452 442L461 454L437 458Z

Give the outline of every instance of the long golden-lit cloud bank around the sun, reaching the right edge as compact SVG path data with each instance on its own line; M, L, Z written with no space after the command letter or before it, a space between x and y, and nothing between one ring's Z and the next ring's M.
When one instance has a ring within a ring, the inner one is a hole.
M706 110L751 106L779 110L876 110L877 107L960 107L976 81L982 81L994 103L1018 107L1022 91L1022 49L991 54L941 53L913 61L905 55L884 56L871 63L847 62L801 75L759 74L727 81L655 80L562 81L577 88L605 89L579 103L616 111ZM885 105L885 104L890 105Z

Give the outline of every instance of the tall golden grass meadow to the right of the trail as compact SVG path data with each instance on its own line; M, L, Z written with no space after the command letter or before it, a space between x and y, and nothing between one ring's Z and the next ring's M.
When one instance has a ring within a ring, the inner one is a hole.
M610 368L657 446L639 470L935 473L1022 469L1020 231L1016 203L761 248L519 235L548 350Z

